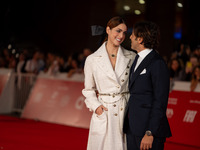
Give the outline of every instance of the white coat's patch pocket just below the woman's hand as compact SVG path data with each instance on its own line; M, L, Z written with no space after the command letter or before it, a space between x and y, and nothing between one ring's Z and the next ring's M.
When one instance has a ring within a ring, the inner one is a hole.
M106 129L107 129L106 112L103 112L101 115L93 113L90 124L91 134L102 135L106 133Z

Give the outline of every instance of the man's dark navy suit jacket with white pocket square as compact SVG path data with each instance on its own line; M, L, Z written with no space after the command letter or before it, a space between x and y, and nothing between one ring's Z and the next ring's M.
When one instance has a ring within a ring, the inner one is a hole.
M144 69L146 73L140 74ZM169 73L165 61L155 50L135 70L129 82L129 92L124 132L144 136L150 130L156 137L170 137L171 130L166 117Z

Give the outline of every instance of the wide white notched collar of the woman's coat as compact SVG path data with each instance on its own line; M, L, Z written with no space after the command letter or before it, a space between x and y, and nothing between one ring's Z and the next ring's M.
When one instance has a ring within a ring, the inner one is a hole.
M130 55L130 53L125 52L125 50L119 46L114 71L106 51L106 42L94 53L94 56L97 57L95 61L98 67L102 69L102 72L106 73L111 79L117 82L130 61L130 58L126 57L126 55Z

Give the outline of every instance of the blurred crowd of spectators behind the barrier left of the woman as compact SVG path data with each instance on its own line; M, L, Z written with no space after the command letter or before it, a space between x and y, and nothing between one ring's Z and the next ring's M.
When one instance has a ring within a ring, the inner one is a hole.
M91 54L89 48L83 48L80 53L73 53L68 57L53 52L44 53L40 50L23 49L17 53L15 49L1 49L0 68L10 68L16 73L32 73L38 75L41 71L49 75L66 72L67 77L74 73L82 73L85 59Z

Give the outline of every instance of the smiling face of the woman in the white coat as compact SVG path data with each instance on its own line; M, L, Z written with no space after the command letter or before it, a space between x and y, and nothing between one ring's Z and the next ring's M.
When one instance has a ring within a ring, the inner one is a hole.
M119 24L112 29L107 27L106 32L108 34L108 42L118 47L125 39L127 26L125 24Z

